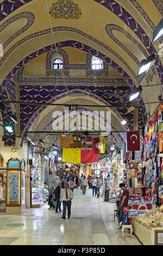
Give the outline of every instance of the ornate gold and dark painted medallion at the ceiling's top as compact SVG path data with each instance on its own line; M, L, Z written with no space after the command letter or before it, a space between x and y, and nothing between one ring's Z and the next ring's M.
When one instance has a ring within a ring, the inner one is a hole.
M49 14L55 19L79 19L82 11L72 0L58 0L52 5Z

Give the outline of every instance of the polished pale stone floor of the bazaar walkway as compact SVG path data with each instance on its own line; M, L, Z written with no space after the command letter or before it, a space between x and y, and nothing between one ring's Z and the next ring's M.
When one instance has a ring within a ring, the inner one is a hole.
M87 189L74 191L72 216L42 208L24 209L22 215L0 214L0 245L140 245L136 237L122 239L114 229L115 204L91 197Z

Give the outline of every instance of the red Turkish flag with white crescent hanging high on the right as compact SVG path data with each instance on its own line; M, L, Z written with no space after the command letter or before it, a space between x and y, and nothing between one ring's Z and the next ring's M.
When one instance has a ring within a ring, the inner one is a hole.
M127 150L128 151L140 150L140 131L127 132Z

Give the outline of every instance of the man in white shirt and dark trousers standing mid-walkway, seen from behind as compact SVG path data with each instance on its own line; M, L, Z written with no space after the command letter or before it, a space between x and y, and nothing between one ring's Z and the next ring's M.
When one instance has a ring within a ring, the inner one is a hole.
M65 220L66 208L67 208L68 218L70 218L70 215L71 215L71 203L72 203L71 200L73 198L73 192L68 188L68 184L65 184L64 187L65 188L61 191L60 202L63 203L63 208L64 208L61 218Z

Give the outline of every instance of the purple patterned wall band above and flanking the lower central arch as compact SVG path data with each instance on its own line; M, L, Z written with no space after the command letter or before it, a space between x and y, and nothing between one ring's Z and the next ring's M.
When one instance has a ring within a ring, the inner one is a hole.
M81 96L87 95L91 96L92 99L101 101L105 105L108 105L111 108L111 104L124 105L124 102L127 102L127 95L130 92L129 87L101 87L101 86L68 86L68 92L70 95L80 94ZM20 86L20 100L23 101L32 101L33 97L35 102L46 101L49 103L60 100L62 97L67 96L67 90L64 85L62 86ZM122 98L122 95L125 96ZM98 106L98 105L97 105ZM21 118L21 131L26 131L33 124L37 116L46 108L46 106L35 106L35 105L20 105L20 118ZM115 114L118 118L122 119L133 118L133 113L127 114L127 108L113 108ZM26 125L27 124L27 125ZM131 124L132 126L133 124Z

